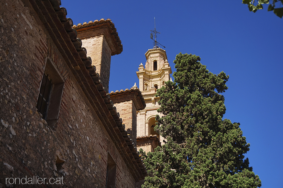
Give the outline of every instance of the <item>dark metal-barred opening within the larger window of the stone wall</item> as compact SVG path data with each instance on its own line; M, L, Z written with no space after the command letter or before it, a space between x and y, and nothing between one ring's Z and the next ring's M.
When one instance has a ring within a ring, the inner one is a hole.
M52 82L48 75L44 74L40 86L39 96L37 100L37 110L42 114L42 118L46 120L47 110L50 101L50 93L52 90Z

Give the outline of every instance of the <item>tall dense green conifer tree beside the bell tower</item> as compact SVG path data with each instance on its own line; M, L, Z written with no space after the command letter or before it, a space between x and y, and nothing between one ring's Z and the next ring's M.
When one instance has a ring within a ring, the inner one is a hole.
M161 107L155 130L165 145L147 155L141 151L148 174L143 188L256 188L260 179L244 155L249 150L239 123L222 119L229 76L215 75L200 57L178 54L174 82L157 91Z

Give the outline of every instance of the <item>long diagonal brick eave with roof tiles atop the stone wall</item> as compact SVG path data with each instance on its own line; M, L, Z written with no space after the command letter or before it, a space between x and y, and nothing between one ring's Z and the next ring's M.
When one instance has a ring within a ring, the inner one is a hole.
M72 19L66 18L66 9L60 8L60 0L27 0L38 14L47 33L58 48L58 51L69 66L77 83L83 90L90 107L96 112L102 125L109 133L110 138L117 146L123 160L129 167L136 181L144 179L147 172L143 161L139 157L137 148L130 140L122 119L119 118L110 95L103 89L96 74L91 59L82 49L81 40L76 38L76 30L72 29ZM107 117L107 118L106 118Z

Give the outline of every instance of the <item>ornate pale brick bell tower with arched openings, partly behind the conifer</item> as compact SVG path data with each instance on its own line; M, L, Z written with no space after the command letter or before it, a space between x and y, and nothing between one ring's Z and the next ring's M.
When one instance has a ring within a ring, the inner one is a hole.
M149 49L145 55L145 67L141 63L137 71L139 89L146 102L146 108L137 111L137 148L149 152L160 145L160 142L163 144L164 138L154 131L156 114L162 116L157 112L160 106L158 105L159 97L155 97L155 94L157 89L170 80L172 70L165 50L158 47L157 42L154 48ZM160 141L159 144L157 140Z

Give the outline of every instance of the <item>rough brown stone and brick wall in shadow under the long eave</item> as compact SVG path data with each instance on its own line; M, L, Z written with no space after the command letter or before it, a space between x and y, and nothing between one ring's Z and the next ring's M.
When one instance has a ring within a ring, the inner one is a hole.
M35 12L23 2L0 1L0 187L6 178L25 176L63 176L64 185L58 187L105 187L108 152L117 163L116 187L134 187L82 89ZM54 130L36 109L47 58L65 79ZM56 159L65 162L56 165Z

